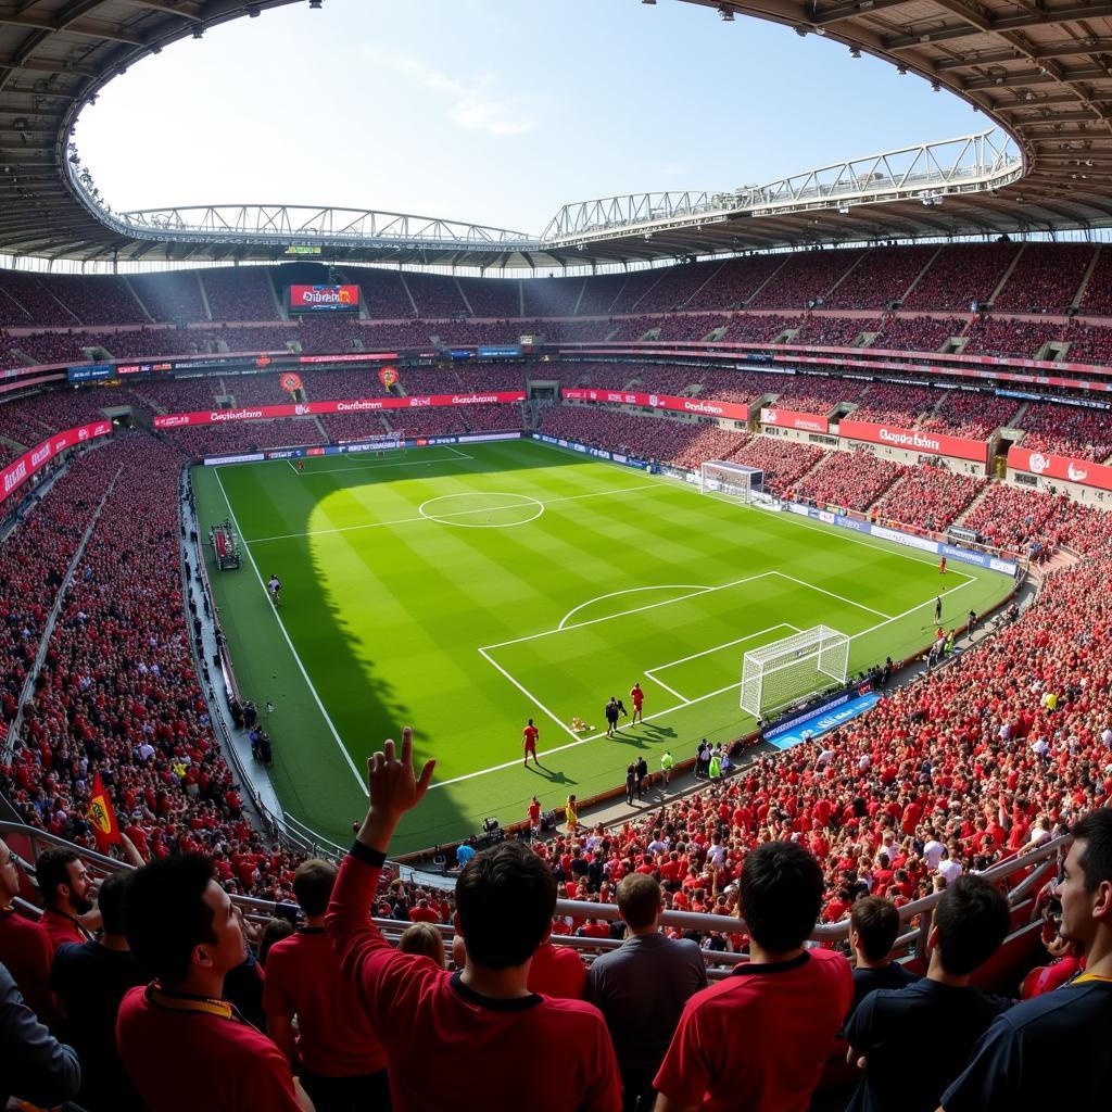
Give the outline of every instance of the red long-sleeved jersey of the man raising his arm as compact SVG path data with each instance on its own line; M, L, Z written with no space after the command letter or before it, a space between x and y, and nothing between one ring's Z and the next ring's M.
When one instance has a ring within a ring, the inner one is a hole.
M622 1083L602 1013L579 1000L480 996L461 974L396 951L367 911L383 861L356 843L340 865L327 923L386 1046L395 1112L487 1112L516 1108L529 1092L550 1108L618 1112ZM481 1084L460 1084L475 1076Z

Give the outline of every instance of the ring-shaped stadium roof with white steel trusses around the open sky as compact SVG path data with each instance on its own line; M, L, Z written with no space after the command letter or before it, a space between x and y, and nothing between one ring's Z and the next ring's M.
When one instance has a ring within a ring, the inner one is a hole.
M568 205L539 237L328 207L111 212L70 147L80 109L137 59L292 2L0 0L0 251L232 261L319 246L337 260L547 268L1112 226L1112 3L1099 0L685 0L875 54L975 105L1003 133L763 186Z

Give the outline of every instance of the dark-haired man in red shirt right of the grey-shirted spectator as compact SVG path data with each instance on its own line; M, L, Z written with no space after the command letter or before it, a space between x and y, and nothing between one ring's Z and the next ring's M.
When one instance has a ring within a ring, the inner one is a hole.
M850 1010L850 963L805 947L823 900L815 858L795 842L758 845L739 894L749 961L687 1002L656 1112L803 1112Z

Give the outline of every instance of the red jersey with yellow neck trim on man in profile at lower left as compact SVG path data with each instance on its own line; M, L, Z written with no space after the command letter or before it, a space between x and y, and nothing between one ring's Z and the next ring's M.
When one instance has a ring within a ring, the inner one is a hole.
M224 1001L131 989L116 1046L150 1112L300 1112L286 1055Z

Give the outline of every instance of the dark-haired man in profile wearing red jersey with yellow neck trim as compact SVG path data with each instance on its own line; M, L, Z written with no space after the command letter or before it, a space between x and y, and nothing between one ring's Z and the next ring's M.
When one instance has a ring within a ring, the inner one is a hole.
M125 920L156 980L123 997L116 1045L149 1112L312 1112L282 1052L224 999L247 941L209 858L182 854L137 870Z

